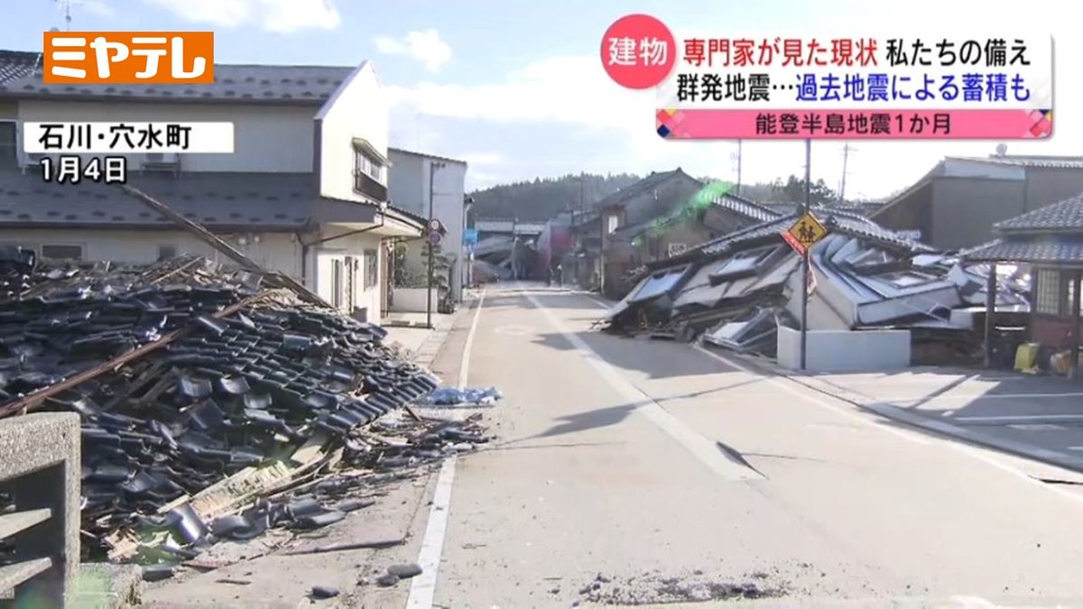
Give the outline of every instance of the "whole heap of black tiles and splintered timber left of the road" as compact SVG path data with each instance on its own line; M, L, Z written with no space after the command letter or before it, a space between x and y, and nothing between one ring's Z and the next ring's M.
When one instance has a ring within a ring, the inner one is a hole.
M0 416L81 416L88 556L165 579L218 541L340 521L374 503L349 493L488 440L477 418L389 420L439 379L272 278L0 251Z

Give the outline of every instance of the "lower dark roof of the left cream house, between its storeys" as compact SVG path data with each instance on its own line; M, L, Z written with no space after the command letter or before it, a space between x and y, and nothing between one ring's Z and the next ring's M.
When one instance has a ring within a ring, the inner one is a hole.
M363 223L373 221L376 210L373 205L316 196L311 173L129 173L128 184L217 230L295 231L321 222ZM169 222L113 185L47 183L34 171L0 171L0 226L159 228Z

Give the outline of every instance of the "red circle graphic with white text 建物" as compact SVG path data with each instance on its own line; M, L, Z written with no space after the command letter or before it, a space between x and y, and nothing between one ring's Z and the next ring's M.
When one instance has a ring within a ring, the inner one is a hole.
M669 76L676 61L674 35L650 15L625 15L602 37L602 66L622 87L654 87Z

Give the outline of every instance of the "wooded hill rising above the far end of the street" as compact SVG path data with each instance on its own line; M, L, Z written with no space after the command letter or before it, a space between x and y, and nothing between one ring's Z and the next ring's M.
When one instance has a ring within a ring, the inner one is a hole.
M565 209L579 209L580 196L586 206L639 180L639 176L619 173L598 176L586 173L560 178L535 178L511 184L499 184L470 193L474 198L475 218L518 218L548 220ZM582 183L582 187L580 187Z

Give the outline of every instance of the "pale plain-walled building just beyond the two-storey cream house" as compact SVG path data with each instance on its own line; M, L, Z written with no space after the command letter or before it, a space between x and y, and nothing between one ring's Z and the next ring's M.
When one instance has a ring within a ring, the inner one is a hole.
M452 261L449 282L452 298L462 299L462 286L470 268L462 235L467 226L466 176L467 163L443 156L390 148L390 199L399 209L416 216L440 220L447 231L440 242L441 250ZM432 185L430 196L430 180ZM431 206L431 209L430 209ZM406 263L420 268L423 242L409 245Z

